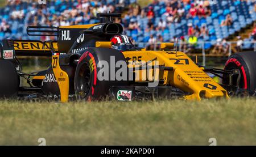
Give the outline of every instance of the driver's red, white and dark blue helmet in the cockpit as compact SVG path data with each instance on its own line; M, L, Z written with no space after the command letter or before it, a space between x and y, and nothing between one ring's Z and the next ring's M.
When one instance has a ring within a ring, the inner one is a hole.
M111 42L112 48L120 51L131 50L134 48L131 39L126 35L113 36Z

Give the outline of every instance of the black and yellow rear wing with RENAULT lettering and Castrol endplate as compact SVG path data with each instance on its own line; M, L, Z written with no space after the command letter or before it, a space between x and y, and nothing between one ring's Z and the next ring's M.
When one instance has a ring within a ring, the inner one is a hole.
M2 49L3 59L7 50L13 51L13 56L52 56L58 52L57 41L39 40L3 40Z

